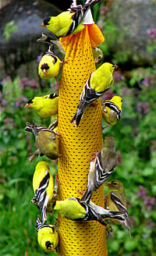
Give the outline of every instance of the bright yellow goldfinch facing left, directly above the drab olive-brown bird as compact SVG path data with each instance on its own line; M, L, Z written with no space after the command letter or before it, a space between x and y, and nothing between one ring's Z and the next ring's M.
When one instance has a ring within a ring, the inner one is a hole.
M36 110L41 117L58 114L58 94L47 94L42 97L34 97L27 101L25 108Z

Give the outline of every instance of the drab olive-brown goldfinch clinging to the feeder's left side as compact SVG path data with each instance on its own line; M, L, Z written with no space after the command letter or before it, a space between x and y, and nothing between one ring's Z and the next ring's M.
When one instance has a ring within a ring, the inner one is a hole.
M34 133L35 141L37 142L38 149L33 154L28 156L30 162L34 160L38 155L46 155L50 159L58 158L58 135L56 127L53 130L53 126L50 129L43 126L35 126L33 123L26 123L25 130L30 133Z

